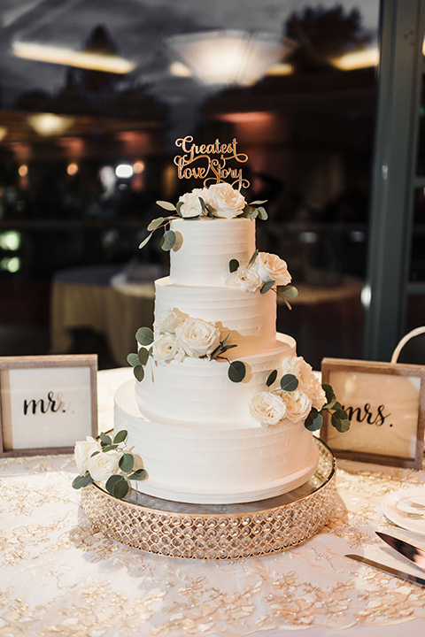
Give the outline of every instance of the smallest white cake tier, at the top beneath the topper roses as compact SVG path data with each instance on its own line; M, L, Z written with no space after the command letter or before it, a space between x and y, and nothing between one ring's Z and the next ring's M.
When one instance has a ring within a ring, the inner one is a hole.
M255 251L255 221L251 219L174 219L177 237L170 252L170 280L187 286L220 287L228 263L247 264Z

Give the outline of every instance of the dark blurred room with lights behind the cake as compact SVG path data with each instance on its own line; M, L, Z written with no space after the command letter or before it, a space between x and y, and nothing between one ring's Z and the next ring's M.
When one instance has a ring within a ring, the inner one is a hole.
M424 323L422 4L2 0L0 356L126 365L168 266L138 245L192 187L192 135L249 156L299 354L389 360Z

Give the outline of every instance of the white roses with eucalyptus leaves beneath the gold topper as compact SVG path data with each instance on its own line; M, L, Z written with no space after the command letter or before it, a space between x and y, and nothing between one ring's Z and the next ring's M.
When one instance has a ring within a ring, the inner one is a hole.
M209 188L194 188L191 192L185 193L174 203L157 201L158 206L168 211L166 217L152 219L148 226L149 234L145 237L139 248L143 248L150 241L152 234L158 228L164 228L161 238L161 248L170 250L174 248L177 237L173 230L168 228L173 219L200 219L209 217L211 219L235 219L243 217L246 219L267 219L267 211L262 204L265 201L255 201L246 203L240 190L233 188L226 181L213 184Z

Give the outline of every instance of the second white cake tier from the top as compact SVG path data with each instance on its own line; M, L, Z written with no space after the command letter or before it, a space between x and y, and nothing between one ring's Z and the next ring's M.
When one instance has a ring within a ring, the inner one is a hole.
M155 281L155 319L177 310L194 319L215 323L222 338L238 345L238 352L273 348L276 344L276 295L244 292L237 288L198 288Z

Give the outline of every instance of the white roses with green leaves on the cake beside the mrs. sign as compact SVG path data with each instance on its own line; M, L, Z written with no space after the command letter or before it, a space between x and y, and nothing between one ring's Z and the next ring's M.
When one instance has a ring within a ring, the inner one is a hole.
M331 423L340 432L350 428L350 420L330 385L321 385L311 365L303 357L287 357L281 369L267 378L268 391L252 396L249 410L261 426L274 426L284 419L304 422L309 431L318 431L323 423L323 411L332 412Z

